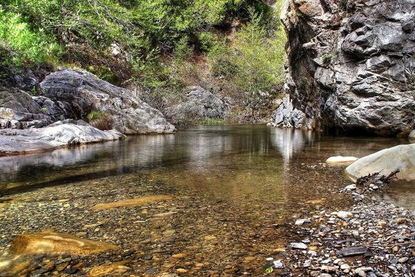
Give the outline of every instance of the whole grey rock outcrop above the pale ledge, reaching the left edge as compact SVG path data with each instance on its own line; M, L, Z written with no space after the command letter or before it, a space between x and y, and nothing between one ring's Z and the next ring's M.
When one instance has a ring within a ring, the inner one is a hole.
M81 119L99 109L123 134L175 131L160 111L91 73L62 69L48 75L40 87L42 96L0 87L0 129L44 127L57 120Z

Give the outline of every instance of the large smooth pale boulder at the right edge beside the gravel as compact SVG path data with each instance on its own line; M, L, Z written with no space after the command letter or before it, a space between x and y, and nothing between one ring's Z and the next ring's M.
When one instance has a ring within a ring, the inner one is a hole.
M398 145L380 150L374 154L358 159L345 170L347 175L356 181L369 173L382 172L388 175L399 169L398 179L415 180L415 144Z

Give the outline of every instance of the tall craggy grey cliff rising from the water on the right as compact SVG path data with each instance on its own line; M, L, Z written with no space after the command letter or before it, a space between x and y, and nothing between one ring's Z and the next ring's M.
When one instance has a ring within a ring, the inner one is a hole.
M389 136L414 129L414 0L288 0L282 21L287 96L275 125Z

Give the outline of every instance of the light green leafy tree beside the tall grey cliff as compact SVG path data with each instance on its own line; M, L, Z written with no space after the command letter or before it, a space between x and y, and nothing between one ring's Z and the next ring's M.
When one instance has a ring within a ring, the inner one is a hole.
M286 38L281 26L267 23L263 14L253 8L248 13L250 21L230 44L216 44L210 59L213 73L223 75L245 94L246 107L254 118L255 111L277 96L284 80Z

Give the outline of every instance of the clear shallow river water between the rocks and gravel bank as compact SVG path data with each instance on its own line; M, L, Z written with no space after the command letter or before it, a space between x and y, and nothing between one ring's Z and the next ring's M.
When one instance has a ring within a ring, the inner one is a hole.
M351 183L344 167L324 164L327 158L362 157L400 143L407 141L227 125L3 157L0 193L11 204L0 206L0 251L13 235L51 228L140 249L133 260L138 274L169 271L180 262L190 273L196 270L191 262L205 262L200 276L239 264L254 272L293 238L287 222L316 206L350 205L338 193ZM177 200L90 211L142 195ZM415 208L411 184L391 184L376 197ZM97 222L100 228L89 229ZM169 256L183 252L187 264Z

